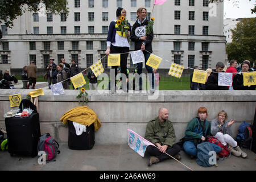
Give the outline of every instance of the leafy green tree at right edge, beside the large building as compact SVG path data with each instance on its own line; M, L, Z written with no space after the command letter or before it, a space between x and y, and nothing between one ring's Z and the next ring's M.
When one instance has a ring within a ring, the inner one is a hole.
M236 59L238 63L243 60L256 60L256 18L242 19L236 28L231 30L232 43L226 44L228 59Z

